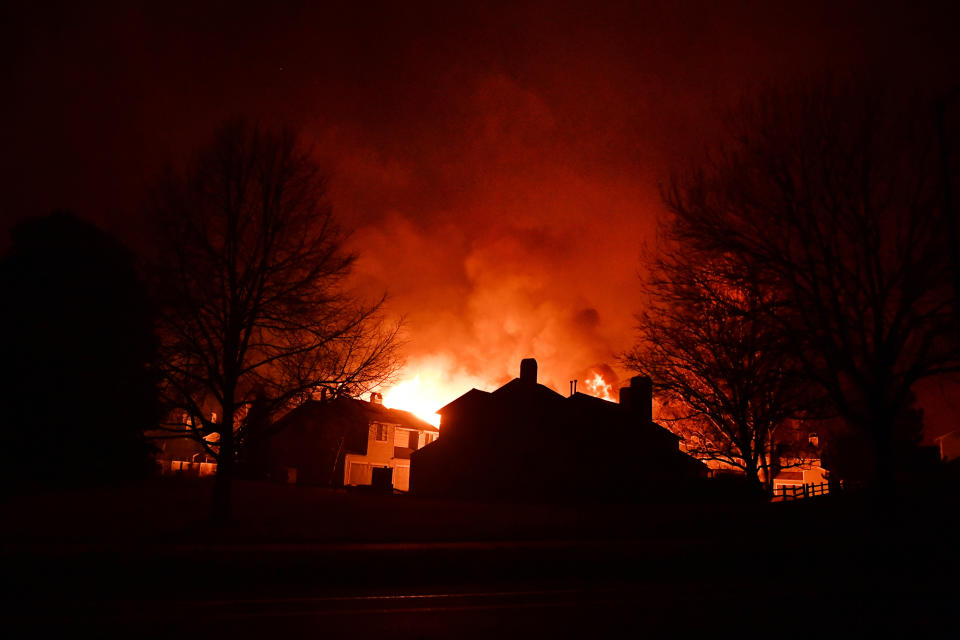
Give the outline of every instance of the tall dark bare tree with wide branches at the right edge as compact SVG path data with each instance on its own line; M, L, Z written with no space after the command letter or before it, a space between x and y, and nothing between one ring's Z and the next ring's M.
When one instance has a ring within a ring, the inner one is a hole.
M723 256L891 488L911 389L957 370L957 299L929 102L830 84L767 91L666 199L677 237ZM949 178L953 179L953 178ZM953 330L951 330L953 329Z

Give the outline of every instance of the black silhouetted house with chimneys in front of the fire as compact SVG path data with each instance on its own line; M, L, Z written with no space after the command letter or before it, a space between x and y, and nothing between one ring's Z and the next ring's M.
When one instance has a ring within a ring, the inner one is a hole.
M438 411L443 438L411 456L411 492L494 499L659 499L706 466L653 422L649 378L620 402L537 382L537 362L496 391L471 389Z

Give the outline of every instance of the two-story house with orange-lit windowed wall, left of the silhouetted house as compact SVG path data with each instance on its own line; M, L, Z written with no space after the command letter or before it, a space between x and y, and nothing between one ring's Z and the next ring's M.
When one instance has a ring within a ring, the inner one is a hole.
M322 486L377 484L407 491L410 454L439 430L408 411L353 398L311 400L277 421L261 454L275 480Z

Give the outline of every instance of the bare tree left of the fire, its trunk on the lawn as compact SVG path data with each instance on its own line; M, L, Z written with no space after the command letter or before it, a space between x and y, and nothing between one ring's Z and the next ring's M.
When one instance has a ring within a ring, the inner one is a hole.
M396 371L398 326L384 324L382 298L346 288L355 256L324 186L294 134L234 122L155 194L166 398L218 462L216 520L229 515L254 422L320 388L359 395Z

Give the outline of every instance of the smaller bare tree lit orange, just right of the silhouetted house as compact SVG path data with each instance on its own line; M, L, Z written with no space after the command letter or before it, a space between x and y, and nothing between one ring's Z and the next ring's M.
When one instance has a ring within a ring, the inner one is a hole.
M710 256L668 247L651 265L639 343L622 362L653 380L661 420L688 453L741 469L769 491L781 468L803 462L802 450L786 455L807 399L796 362L762 292L730 282Z

